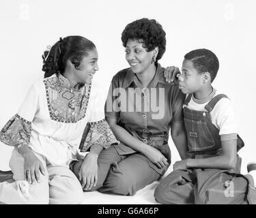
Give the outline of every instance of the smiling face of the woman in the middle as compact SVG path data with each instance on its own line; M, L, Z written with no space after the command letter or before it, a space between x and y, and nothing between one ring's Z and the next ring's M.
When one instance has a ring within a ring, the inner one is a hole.
M125 51L126 61L134 74L143 73L148 67L154 65L154 61L152 61L154 52L147 52L146 48L143 48L143 44L138 40L128 40Z

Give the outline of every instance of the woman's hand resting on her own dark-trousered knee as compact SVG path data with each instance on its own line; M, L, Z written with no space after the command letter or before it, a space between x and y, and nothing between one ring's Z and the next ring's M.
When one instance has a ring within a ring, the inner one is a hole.
M147 149L145 149L144 155L152 161L158 168L164 168L169 163L167 162L167 158L160 153L157 149L155 149L152 146L147 146Z

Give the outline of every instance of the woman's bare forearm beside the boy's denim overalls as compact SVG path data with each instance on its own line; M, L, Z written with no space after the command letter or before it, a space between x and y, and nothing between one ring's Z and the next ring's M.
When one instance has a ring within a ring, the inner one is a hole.
M184 127L184 122L173 122L171 125L171 138L175 144L177 151L180 154L181 159L187 159L187 141L186 141L186 131Z

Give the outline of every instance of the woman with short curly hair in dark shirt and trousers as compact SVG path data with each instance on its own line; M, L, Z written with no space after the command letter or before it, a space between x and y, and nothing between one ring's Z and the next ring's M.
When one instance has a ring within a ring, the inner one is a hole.
M184 95L177 82L169 84L158 63L166 40L156 20L131 22L122 33L122 42L130 68L113 77L105 105L106 121L121 143L100 153L98 183L91 190L132 196L158 180L169 167L170 127L181 157L186 157L182 153L186 147ZM79 164L72 170L78 174Z

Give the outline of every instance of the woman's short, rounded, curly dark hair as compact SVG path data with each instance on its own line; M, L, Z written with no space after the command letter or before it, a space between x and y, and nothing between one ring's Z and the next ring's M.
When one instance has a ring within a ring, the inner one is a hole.
M122 32L123 46L126 47L128 40L139 40L143 43L143 47L150 52L158 47L158 56L156 61L162 58L165 53L166 38L165 31L156 20L142 18L129 23Z

